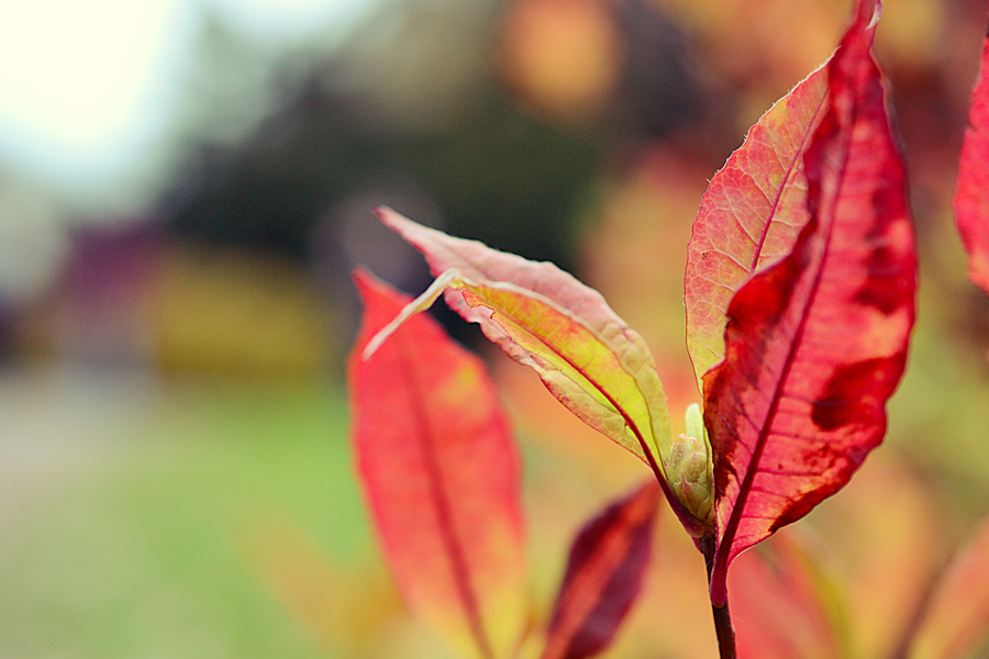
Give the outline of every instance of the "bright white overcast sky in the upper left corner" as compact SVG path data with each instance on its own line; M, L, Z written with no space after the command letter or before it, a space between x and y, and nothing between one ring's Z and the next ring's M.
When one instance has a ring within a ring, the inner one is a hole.
M111 185L169 126L207 16L276 53L373 1L0 0L0 166Z

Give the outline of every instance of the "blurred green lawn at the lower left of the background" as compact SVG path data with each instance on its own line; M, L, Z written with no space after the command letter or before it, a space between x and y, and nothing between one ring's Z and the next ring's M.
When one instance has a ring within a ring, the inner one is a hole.
M119 418L124 403L104 398L96 404ZM54 447L85 457L58 469L35 460L9 499L18 510L0 516L0 656L335 656L252 556L280 524L334 562L374 559L343 392L187 382L138 398L105 433L107 414L66 418L69 439Z

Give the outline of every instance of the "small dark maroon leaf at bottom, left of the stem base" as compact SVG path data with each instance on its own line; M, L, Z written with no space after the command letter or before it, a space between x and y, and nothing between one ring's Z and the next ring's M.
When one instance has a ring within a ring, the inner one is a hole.
M649 480L577 535L542 659L584 659L611 643L642 588L658 495Z

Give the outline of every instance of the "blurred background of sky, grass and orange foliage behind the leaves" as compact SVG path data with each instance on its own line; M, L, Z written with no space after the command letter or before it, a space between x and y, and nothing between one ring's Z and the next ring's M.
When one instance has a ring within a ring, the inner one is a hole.
M0 1L0 656L443 657L351 470L370 209L597 287L699 394L682 272L707 181L830 54L847 0ZM949 199L985 2L888 0L920 321L887 446L800 533L863 657L989 513L989 301ZM469 327L441 316L468 345ZM488 354L526 459L534 616L569 539L646 476ZM659 523L612 657L713 652L699 555ZM666 621L656 624L657 619Z

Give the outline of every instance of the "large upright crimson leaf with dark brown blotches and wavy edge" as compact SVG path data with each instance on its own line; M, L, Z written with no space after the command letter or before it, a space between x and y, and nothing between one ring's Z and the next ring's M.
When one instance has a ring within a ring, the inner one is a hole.
M731 561L844 485L886 432L907 357L916 258L902 158L863 0L827 67L804 156L810 221L732 299L725 360L704 376L723 606Z

